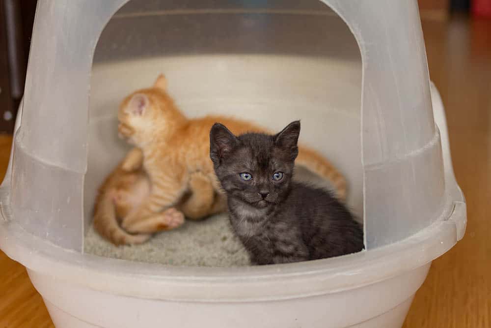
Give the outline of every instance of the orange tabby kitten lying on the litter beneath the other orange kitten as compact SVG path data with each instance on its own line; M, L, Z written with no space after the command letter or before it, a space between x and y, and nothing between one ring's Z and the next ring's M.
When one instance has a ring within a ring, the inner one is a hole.
M98 190L94 228L113 244L139 244L148 240L152 233L179 227L184 223L184 215L190 219L200 219L223 210L223 199L216 197L210 180L196 172L190 177L190 192L177 205L182 212L174 208L166 209L154 215L152 220L136 222L139 225L133 229L140 234L129 234L120 227L119 222L135 211L150 194L150 181L142 164L141 150L130 150ZM144 231L148 233L142 233Z

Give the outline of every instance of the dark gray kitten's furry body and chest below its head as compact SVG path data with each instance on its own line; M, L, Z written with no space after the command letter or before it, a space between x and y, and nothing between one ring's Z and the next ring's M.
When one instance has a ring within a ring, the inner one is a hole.
M294 183L279 204L258 209L229 197L232 227L255 265L292 263L363 249L363 231L326 191Z

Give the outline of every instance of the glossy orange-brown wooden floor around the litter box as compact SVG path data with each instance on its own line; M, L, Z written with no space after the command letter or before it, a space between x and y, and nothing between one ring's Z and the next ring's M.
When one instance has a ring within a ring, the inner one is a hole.
M432 80L446 107L467 232L437 259L405 328L491 328L491 21L424 22ZM0 176L11 138L0 136ZM0 252L0 328L54 327L24 267Z

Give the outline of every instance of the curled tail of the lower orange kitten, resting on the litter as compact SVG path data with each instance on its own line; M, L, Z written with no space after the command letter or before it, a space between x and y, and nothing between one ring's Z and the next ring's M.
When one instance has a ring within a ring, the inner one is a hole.
M141 244L150 238L150 235L131 235L118 224L114 203L107 190L100 195L94 209L94 228L104 238L115 245Z

